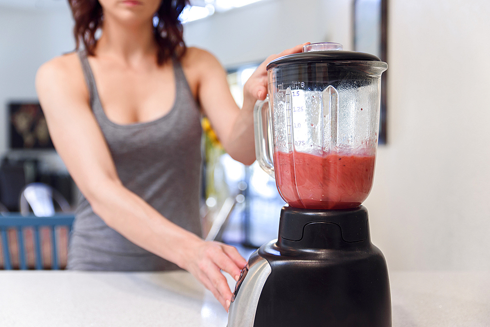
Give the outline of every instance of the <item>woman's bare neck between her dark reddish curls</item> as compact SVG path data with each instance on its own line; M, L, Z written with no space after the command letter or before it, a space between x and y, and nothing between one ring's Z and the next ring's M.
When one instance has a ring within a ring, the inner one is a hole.
M96 55L116 57L133 66L147 57L156 58L157 49L151 21L128 24L104 17Z

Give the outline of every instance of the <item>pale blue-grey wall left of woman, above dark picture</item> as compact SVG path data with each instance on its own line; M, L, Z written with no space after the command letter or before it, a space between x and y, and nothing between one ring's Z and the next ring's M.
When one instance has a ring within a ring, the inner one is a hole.
M34 77L44 62L73 50L72 17L65 7L0 5L0 156L7 151L11 100L36 100Z

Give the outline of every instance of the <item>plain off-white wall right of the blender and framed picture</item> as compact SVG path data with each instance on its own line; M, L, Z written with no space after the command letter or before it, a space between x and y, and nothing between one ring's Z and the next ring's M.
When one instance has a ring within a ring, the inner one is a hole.
M490 2L391 0L389 144L366 201L400 269L490 269Z

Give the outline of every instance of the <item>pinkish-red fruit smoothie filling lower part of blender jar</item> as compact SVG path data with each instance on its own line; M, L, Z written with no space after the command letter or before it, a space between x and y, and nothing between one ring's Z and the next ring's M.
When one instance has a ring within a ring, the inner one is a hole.
M276 185L295 208L356 208L371 190L374 161L374 155L275 151Z

